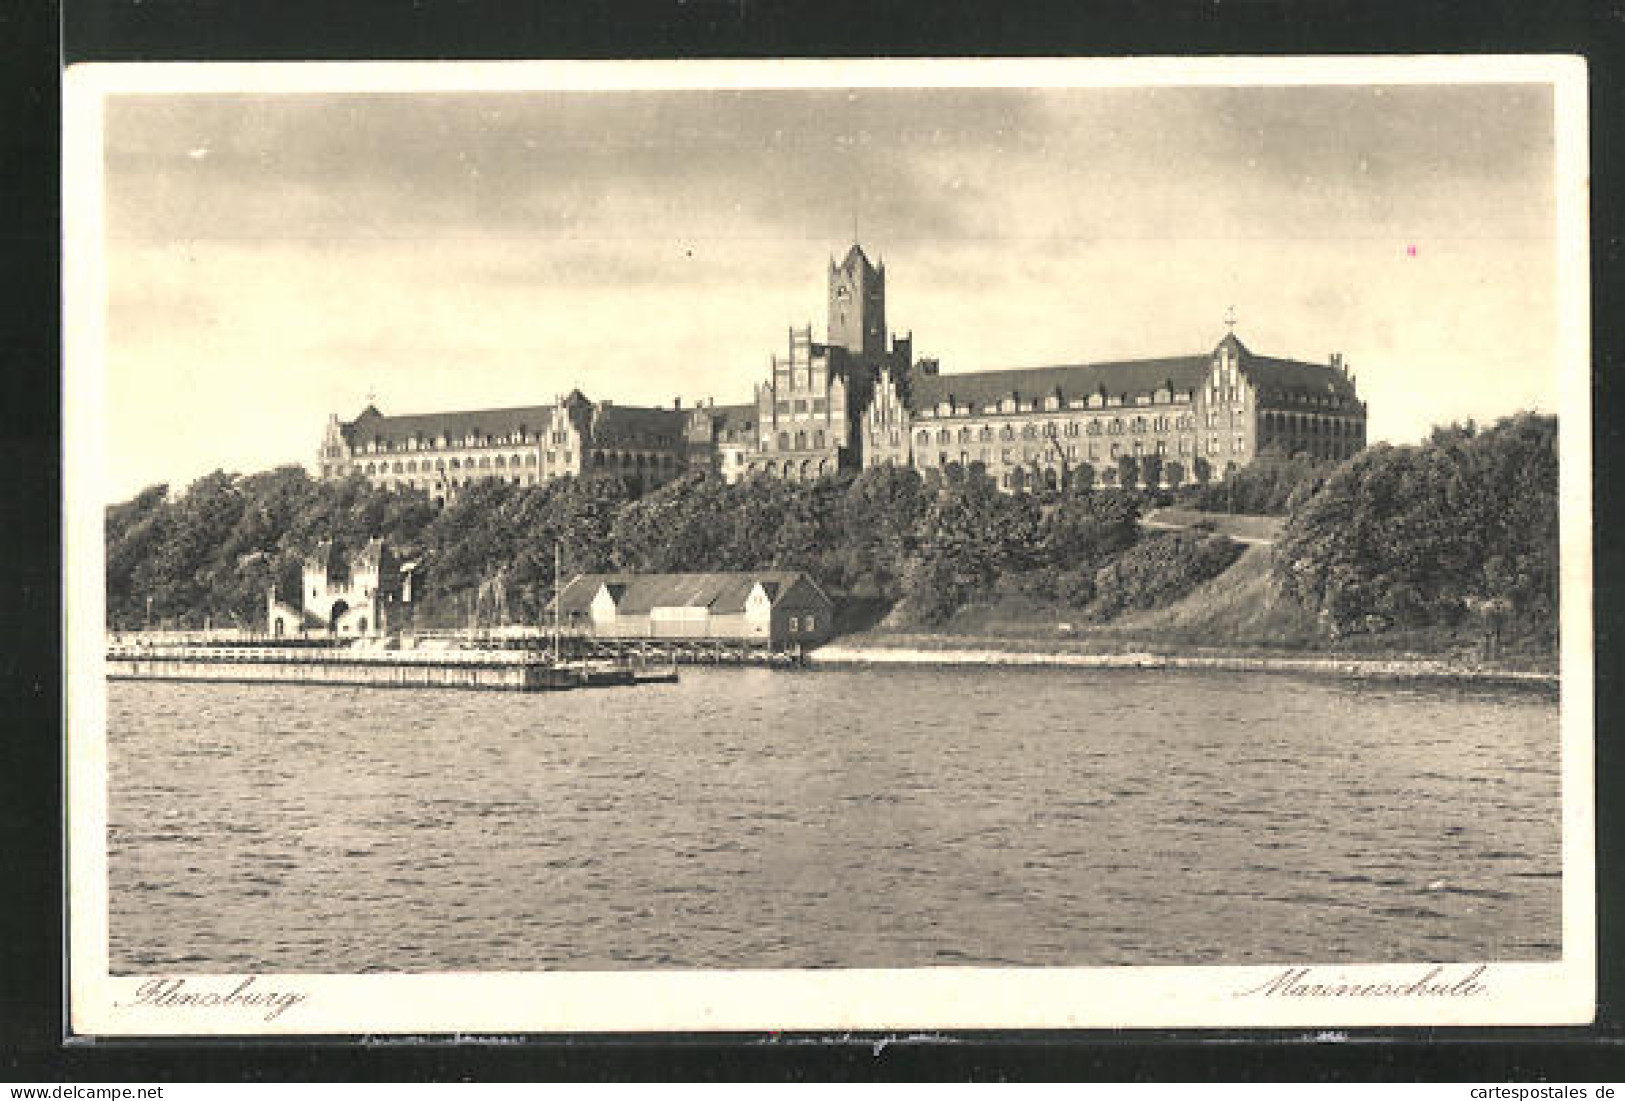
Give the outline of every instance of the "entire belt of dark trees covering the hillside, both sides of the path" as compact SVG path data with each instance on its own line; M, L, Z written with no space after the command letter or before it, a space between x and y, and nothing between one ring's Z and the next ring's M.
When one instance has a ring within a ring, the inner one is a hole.
M1482 620L1550 645L1555 445L1557 422L1531 414L1344 463L1266 456L1183 499L1284 512L1277 585L1331 638ZM538 620L556 547L566 575L808 570L845 627L881 615L941 625L972 604L1103 622L1178 599L1240 550L1201 533L1142 533L1147 500L1084 484L1012 495L973 471L926 482L878 468L800 486L692 474L645 495L613 477L484 482L437 510L422 494L317 482L299 468L214 473L107 510L109 619L258 627L266 589L296 593L322 539L384 538L421 565L419 622L465 622L494 578L510 622Z

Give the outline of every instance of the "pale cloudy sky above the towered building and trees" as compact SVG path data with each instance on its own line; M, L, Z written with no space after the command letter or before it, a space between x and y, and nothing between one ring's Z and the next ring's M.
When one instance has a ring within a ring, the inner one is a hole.
M944 373L1342 352L1373 440L1557 409L1537 84L115 94L109 500L328 414L744 403L827 263Z

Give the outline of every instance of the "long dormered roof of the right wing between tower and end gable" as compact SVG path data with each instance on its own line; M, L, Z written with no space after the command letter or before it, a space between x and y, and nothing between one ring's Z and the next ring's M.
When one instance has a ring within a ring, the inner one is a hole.
M1017 367L1012 370L977 370L954 375L913 372L908 398L913 411L934 409L952 399L968 404L975 414L1012 395L1022 401L1060 393L1063 401L1097 393L1123 396L1154 393L1168 383L1173 390L1194 390L1206 378L1207 356L1172 356L1165 359L1129 359L1105 364L1063 364L1056 367Z

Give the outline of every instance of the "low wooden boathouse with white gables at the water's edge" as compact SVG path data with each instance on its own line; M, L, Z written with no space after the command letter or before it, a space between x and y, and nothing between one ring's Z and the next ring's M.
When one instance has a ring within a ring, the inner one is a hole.
M559 593L559 625L592 638L812 646L830 637L834 611L800 570L580 573Z

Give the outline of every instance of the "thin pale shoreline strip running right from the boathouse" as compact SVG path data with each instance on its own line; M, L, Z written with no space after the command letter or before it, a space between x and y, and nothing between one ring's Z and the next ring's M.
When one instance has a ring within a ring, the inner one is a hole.
M1064 653L964 646L923 650L915 646L863 646L830 643L806 654L817 666L1030 666L1081 669L1206 669L1214 672L1298 672L1383 680L1472 680L1557 687L1558 674L1523 669L1487 669L1443 658L1346 658L1178 654L1152 651Z

